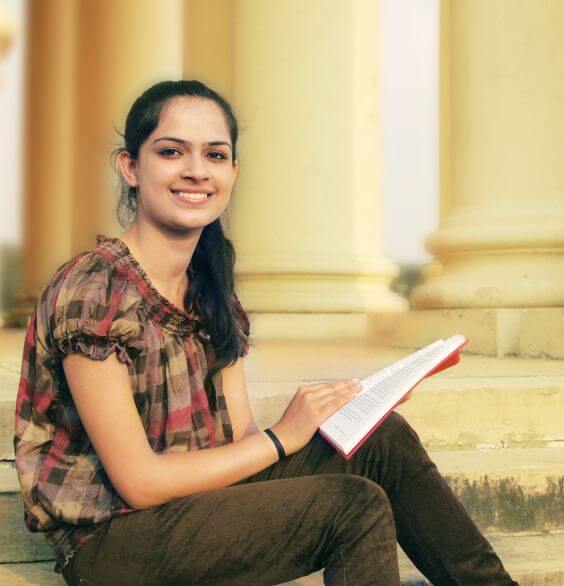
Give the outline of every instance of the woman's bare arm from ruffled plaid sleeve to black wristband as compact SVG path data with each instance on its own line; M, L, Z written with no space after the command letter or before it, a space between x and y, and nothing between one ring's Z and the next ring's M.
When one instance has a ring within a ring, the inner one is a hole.
M276 447L263 431L216 448L156 454L133 401L127 366L115 353L103 361L70 354L63 368L100 461L133 508L229 486L278 460Z

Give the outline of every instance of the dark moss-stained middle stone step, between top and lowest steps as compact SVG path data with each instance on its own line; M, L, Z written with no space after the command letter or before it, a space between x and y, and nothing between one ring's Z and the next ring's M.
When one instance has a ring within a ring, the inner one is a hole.
M484 531L564 529L564 447L431 452L440 472ZM14 462L0 462L0 563L46 559L27 531Z

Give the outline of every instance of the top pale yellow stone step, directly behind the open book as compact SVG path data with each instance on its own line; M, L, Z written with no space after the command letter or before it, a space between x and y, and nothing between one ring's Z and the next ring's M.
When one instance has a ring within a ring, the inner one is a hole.
M16 334L19 330L16 330ZM0 332L0 459L13 459L23 335ZM364 377L410 351L334 340L262 340L245 362L257 423L275 423L303 384ZM464 354L398 411L432 450L564 445L564 361Z

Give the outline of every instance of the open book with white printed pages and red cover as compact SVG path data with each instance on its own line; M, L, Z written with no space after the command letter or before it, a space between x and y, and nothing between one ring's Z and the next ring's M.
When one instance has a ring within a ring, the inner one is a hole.
M346 460L386 419L397 404L424 378L460 362L464 336L437 340L390 366L363 378L362 390L319 427L323 436Z

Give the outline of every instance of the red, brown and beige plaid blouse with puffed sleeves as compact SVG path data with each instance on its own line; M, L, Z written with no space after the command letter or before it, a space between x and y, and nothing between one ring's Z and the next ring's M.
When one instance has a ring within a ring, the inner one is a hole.
M249 350L242 319L239 355ZM100 523L133 512L112 486L72 400L62 358L104 360L116 352L129 370L135 405L154 452L186 452L233 441L221 371L216 409L204 389L215 360L203 320L177 308L151 284L118 238L61 266L41 292L25 338L14 449L24 520L44 532L61 573Z

